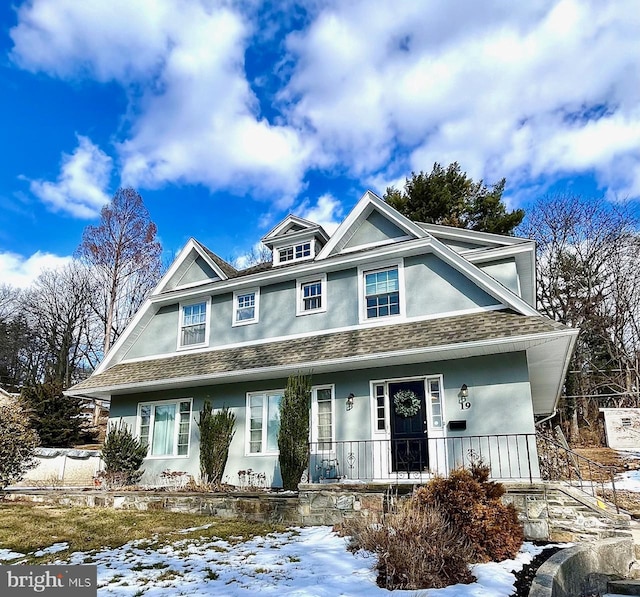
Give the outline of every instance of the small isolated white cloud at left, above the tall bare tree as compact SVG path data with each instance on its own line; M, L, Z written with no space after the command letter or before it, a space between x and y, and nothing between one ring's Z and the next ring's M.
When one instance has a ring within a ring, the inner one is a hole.
M87 137L78 136L74 152L62 154L56 182L32 180L31 192L53 211L64 211L77 218L93 218L109 202L112 160Z

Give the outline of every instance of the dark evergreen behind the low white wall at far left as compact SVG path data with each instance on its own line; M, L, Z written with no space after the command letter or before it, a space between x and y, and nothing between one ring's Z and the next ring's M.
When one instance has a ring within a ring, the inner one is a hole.
M71 448L95 439L82 418L82 401L65 396L59 382L36 384L22 390L31 426L46 448Z

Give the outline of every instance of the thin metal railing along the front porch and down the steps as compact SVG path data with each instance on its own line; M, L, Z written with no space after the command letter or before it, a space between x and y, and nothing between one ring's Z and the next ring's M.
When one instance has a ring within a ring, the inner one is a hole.
M560 481L617 506L614 471L534 433L309 444L309 481L424 482L481 460L502 481Z

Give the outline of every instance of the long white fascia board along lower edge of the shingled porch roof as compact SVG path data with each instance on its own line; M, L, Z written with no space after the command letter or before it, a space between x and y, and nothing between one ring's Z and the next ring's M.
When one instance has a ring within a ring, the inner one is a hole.
M572 330L573 331L573 330ZM175 379L159 379L149 382L132 382L114 386L102 386L83 390L85 396L124 394L128 392L148 392L175 387L217 385L232 383L237 380L251 381L258 379L272 379L274 377L286 377L295 371L312 371L313 373L325 373L334 371L349 371L353 369L370 369L373 367L389 367L401 364L413 364L420 362L444 361L462 359L479 355L501 354L520 352L531 346L544 344L554 339L567 335L567 331L545 332L509 338L492 340L480 340L448 344L444 346L421 347L403 351L380 352L374 355L355 355L348 358L326 359L322 361L308 361L291 365L278 365L275 367L260 367L255 369L242 369L227 371L224 373L189 375Z

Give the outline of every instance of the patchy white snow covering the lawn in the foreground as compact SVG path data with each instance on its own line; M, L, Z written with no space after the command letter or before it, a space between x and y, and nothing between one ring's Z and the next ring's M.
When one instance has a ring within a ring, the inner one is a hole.
M507 597L514 590L511 571L520 570L541 551L525 543L515 560L475 565L473 574L478 580L473 584L417 592L379 588L373 556L349 553L346 540L330 527L291 529L238 544L189 538L159 547L153 541L134 541L117 549L76 552L54 563L97 564L100 597L255 597L258 593L290 597ZM15 555L0 552L0 563Z

